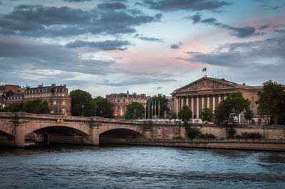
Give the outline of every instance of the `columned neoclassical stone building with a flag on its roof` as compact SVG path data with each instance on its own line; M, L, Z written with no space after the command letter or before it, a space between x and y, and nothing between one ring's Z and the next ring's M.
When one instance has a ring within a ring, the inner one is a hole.
M193 112L193 118L199 118L199 112L204 107L214 110L214 107L226 99L230 93L240 91L244 98L251 101L250 107L254 111L254 121L261 123L261 117L257 114L257 92L262 86L249 86L237 84L224 79L202 77L195 82L180 87L172 92L172 111L178 112L183 104L187 104ZM240 119L241 120L241 119Z

